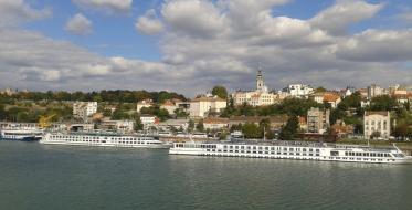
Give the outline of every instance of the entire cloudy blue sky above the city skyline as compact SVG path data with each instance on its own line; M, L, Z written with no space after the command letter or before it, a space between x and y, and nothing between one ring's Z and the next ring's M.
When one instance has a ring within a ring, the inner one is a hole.
M2 10L3 9L3 10ZM1 0L0 87L412 84L408 0ZM17 59L19 57L19 59Z

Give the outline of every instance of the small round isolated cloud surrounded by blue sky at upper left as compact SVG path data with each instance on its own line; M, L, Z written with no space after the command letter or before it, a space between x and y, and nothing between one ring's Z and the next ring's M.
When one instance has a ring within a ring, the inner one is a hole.
M67 20L64 30L77 35L86 35L93 32L93 23L82 13L77 13Z

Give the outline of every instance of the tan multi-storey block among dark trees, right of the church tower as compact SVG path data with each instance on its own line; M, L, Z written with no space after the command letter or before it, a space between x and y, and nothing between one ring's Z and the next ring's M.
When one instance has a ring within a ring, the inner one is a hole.
M307 112L307 132L324 134L327 128L330 127L329 116L329 109L321 111L319 108L311 107Z

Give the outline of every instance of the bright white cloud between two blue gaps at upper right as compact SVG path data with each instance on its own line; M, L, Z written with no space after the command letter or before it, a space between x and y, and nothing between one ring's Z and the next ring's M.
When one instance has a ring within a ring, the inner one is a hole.
M383 4L367 3L362 0L338 0L332 7L310 19L310 23L327 32L341 35L348 25L372 18Z

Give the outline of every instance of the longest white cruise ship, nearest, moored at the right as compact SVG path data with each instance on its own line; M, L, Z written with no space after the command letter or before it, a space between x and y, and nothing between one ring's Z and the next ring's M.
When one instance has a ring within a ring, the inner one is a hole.
M326 143L175 143L171 155L299 159L376 164L412 164L395 145L392 149Z

